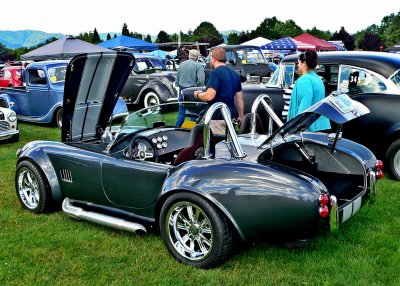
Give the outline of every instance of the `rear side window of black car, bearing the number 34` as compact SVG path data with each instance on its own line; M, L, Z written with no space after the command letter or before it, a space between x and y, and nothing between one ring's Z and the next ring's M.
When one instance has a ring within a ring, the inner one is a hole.
M375 74L357 67L342 66L339 75L339 88L348 89L349 94L384 93L386 84Z

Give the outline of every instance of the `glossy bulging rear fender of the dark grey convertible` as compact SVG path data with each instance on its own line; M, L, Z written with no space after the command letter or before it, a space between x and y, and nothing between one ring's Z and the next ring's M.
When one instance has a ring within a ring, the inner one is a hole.
M318 197L326 192L316 180L238 160L193 160L170 172L162 194L186 190L204 196L248 240L270 231L316 228Z

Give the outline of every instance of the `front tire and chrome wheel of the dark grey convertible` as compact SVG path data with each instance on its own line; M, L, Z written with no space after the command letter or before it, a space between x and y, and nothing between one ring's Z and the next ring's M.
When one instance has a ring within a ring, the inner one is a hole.
M49 212L52 198L49 183L42 171L30 161L21 161L15 173L15 189L22 207L39 214Z

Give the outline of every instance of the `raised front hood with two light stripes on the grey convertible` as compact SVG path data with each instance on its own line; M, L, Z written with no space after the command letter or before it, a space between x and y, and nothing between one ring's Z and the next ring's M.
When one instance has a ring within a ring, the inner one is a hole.
M130 53L75 56L67 67L62 141L100 138L135 64Z

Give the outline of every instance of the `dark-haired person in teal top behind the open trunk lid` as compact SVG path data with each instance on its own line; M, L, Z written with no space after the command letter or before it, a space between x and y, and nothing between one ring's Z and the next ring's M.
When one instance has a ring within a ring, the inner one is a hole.
M298 59L300 77L296 80L290 98L288 121L325 97L324 83L314 71L317 64L318 55L315 51L307 50L300 54ZM330 128L329 119L321 116L308 130L317 132Z

